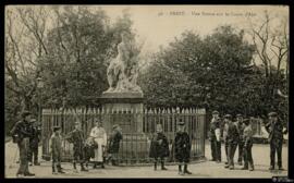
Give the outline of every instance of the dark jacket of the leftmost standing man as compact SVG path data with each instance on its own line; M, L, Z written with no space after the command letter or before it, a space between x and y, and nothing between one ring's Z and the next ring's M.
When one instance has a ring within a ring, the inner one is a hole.
M10 131L13 142L20 143L23 138L33 137L32 124L25 120L19 121Z

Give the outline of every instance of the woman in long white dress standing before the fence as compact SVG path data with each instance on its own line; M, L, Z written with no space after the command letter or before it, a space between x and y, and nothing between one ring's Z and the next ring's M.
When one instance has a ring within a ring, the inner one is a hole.
M90 131L90 135L94 137L95 142L98 144L98 148L95 149L95 158L93 159L94 168L97 167L97 163L101 163L101 168L105 168L103 162L103 150L107 145L107 133L106 130L102 127L102 122L98 120L95 121L95 126Z

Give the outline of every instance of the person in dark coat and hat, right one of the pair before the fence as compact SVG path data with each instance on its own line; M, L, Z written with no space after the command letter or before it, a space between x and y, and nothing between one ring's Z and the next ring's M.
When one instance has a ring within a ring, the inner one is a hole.
M179 161L179 174L192 174L187 170L187 163L189 162L191 142L188 134L185 132L185 122L180 120L177 127L179 130L174 138L174 151L175 159ZM184 171L182 171L182 164L184 164Z

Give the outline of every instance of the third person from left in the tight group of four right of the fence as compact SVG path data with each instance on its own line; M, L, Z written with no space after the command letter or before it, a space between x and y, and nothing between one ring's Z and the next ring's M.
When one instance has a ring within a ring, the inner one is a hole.
M243 146L244 146L244 141L243 141L243 131L245 129L245 125L243 123L243 117L242 114L236 114L236 122L235 122L238 131L238 143L237 143L237 148L238 148L238 158L237 158L237 163L242 166L242 157L243 157Z

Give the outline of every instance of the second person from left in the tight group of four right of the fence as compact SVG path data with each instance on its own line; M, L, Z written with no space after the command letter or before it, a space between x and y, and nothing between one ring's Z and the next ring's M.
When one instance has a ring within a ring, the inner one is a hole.
M234 169L234 155L235 155L236 146L238 143L238 132L237 132L237 126L232 122L231 114L225 114L224 119L228 120L226 141L229 144L229 148L228 148L229 164L226 164L224 168L230 168L230 170L233 170Z

